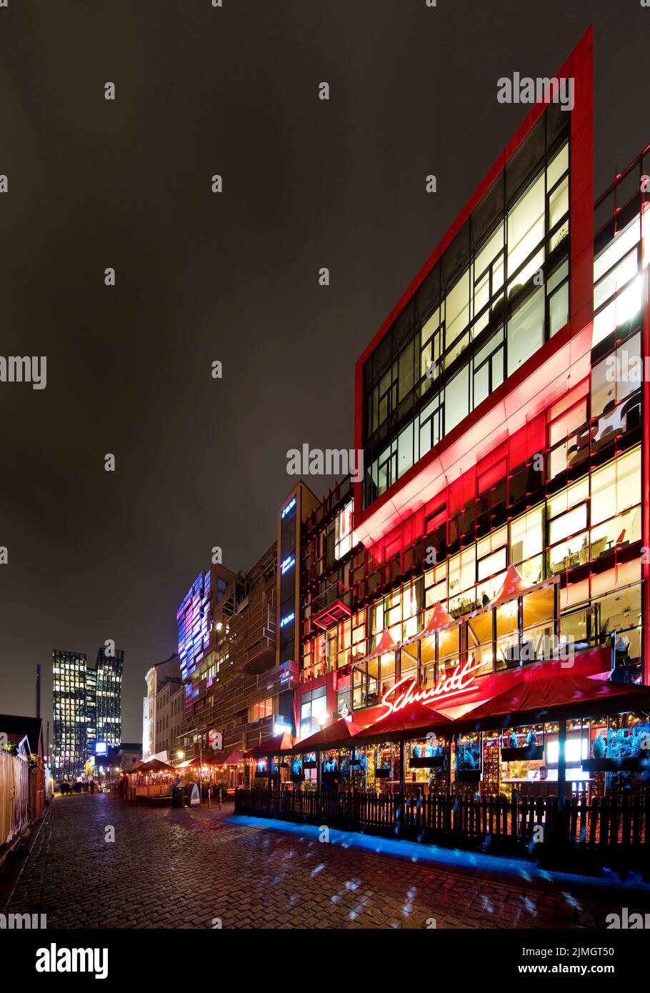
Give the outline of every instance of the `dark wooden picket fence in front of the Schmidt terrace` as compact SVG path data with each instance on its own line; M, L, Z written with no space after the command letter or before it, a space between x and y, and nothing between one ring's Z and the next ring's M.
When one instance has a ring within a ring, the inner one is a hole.
M650 867L650 796L587 800L557 796L480 798L365 790L237 789L235 813L324 824L439 844L504 850L583 850L599 861Z

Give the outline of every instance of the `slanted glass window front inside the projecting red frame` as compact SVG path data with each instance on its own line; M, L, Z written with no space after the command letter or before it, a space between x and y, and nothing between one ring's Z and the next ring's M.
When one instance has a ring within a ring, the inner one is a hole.
M363 367L363 506L569 317L567 115L549 107Z

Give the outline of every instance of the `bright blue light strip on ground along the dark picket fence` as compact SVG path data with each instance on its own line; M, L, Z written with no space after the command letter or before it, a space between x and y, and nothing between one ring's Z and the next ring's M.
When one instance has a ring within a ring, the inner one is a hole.
M293 824L291 821L275 820L271 817L248 817L244 814L232 814L223 819L240 827L280 831L283 834L290 834L310 841L320 841L323 830L317 824ZM485 877L500 878L503 882L510 879L520 884L545 883L560 886L563 889L567 885L573 884L583 887L606 887L626 892L636 890L642 892L646 897L650 894L650 887L646 886L635 873L630 873L627 879L621 880L615 873L607 871L597 877L554 872L549 869L538 869L535 863L527 862L516 856L487 855L482 852L464 851L460 848L441 848L438 845L418 844L416 841L405 841L401 838L382 838L371 834L359 834L355 831L337 831L334 828L329 828L329 844L340 845L341 848L373 852L376 855L408 859L410 862L420 865L438 865L446 869L472 869ZM570 897L569 894L565 894L565 896Z

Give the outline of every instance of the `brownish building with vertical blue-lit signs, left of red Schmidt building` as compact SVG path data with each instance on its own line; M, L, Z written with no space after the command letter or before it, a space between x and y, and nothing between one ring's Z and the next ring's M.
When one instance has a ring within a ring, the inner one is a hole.
M199 739L206 753L226 759L296 733L302 530L318 506L309 488L297 484L278 508L277 540L248 572L230 573L204 622L200 657L186 680L187 758L197 754ZM205 584L202 592L200 584L195 589L204 600ZM178 615L180 654L187 611L188 598ZM194 606L191 613L195 617ZM242 777L243 765L233 764L233 784L241 784Z

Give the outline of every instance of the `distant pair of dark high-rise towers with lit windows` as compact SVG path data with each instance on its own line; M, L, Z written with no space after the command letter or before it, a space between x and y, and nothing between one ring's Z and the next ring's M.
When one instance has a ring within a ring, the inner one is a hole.
M124 652L102 646L95 667L80 651L56 649L53 661L54 776L80 777L97 742L120 744Z

